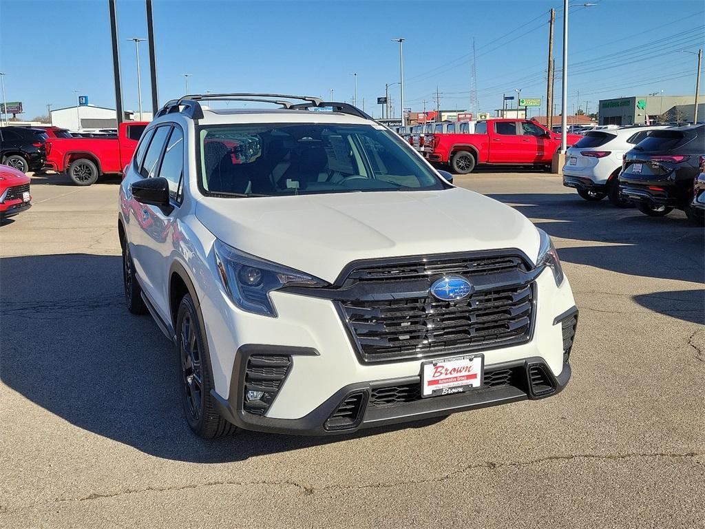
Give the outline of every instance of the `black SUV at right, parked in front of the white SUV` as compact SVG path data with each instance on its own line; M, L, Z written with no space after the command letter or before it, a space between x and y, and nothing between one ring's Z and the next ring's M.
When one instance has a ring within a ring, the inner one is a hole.
M705 125L653 130L625 154L620 195L651 217L678 208L697 221L702 213L692 207L693 181L703 154Z

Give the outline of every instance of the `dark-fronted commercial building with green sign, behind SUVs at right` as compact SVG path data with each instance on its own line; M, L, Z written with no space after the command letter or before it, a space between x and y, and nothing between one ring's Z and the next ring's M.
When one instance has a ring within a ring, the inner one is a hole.
M702 96L700 96L702 97ZM641 125L644 123L692 121L694 95L642 95L601 99L600 125ZM703 105L698 105L698 115Z

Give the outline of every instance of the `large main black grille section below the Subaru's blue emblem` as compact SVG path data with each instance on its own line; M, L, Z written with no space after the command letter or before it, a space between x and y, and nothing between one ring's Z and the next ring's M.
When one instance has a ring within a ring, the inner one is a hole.
M510 346L529 340L532 286L479 291L457 301L341 301L362 360L382 362Z

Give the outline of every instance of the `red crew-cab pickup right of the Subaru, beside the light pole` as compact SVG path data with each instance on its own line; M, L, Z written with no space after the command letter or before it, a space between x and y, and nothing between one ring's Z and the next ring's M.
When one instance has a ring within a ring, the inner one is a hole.
M582 139L568 134L568 145ZM560 147L560 134L528 119L478 121L474 134L434 134L425 138L424 157L449 164L456 174L470 173L479 164L550 166Z

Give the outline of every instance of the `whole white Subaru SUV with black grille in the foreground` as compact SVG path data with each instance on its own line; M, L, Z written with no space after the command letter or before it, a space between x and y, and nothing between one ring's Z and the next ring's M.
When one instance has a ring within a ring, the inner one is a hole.
M333 434L563 389L577 308L551 239L450 180L348 104L168 102L118 231L192 430Z

